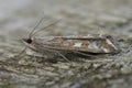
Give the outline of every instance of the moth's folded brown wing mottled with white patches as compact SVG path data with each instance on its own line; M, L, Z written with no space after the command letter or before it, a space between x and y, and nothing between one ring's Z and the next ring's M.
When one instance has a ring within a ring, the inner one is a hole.
M118 51L110 38L102 36L56 36L34 40L35 47L57 51L78 51L88 53L114 53Z

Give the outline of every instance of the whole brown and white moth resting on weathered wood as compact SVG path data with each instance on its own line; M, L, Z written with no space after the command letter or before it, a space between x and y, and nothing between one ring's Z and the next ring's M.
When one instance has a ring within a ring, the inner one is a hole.
M55 23L56 22L51 23L44 29ZM30 33L28 38L23 38L23 42L29 48L41 54L51 55L51 53L57 53L63 58L67 59L65 55L63 55L64 52L85 56L119 53L113 36L108 34L33 37L32 35L36 33L34 30Z

